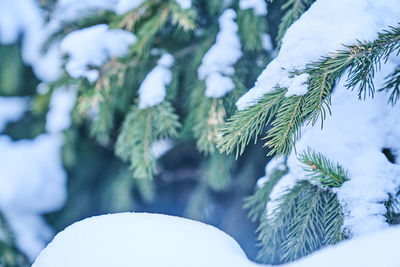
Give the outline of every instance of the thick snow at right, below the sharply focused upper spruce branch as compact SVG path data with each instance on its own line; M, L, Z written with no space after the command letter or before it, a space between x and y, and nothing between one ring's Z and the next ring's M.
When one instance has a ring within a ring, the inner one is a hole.
M382 65L375 78L376 88L396 66L392 60ZM400 165L393 164L382 153L383 148L398 151L400 145L400 108L387 104L387 96L377 93L365 101L358 100L357 92L345 88L342 79L332 94L332 116L319 125L304 126L296 143L297 152L308 147L328 159L338 161L348 170L350 181L336 189L345 213L344 226L353 235L361 235L388 227L384 201L388 194L400 188ZM305 178L298 154L288 159L289 173L282 177L271 192L267 213L272 214L276 199Z

